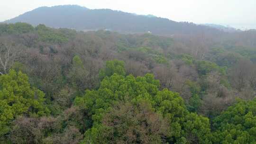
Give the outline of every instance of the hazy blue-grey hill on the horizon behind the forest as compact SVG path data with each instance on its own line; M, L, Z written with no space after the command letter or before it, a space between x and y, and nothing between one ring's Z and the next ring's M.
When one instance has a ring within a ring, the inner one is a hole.
M87 9L77 5L40 7L26 12L5 23L26 22L37 26L65 27L76 30L108 29L122 33L152 32L156 35L219 33L206 26L188 22L175 22L152 15L134 15L111 9Z

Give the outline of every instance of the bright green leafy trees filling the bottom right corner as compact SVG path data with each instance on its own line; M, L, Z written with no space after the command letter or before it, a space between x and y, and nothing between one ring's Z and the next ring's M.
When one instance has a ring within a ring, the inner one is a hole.
M256 143L256 99L238 100L213 120L213 144Z

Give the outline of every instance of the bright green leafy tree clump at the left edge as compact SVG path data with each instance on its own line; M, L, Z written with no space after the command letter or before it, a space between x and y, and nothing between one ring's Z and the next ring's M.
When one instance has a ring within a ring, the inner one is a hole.
M28 77L22 72L10 70L0 76L0 135L9 131L9 123L15 117L26 114L41 117L49 114L44 105L45 94L31 88Z

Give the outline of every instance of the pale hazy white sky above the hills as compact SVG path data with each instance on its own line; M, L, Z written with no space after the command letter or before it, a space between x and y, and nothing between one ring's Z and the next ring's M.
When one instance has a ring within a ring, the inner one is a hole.
M1 0L0 21L42 6L80 5L89 9L113 9L152 14L174 21L212 23L256 29L256 0Z

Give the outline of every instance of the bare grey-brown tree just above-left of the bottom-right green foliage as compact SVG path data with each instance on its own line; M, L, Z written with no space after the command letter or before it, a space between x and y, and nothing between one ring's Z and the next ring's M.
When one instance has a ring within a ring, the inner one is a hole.
M229 83L225 81L227 78L222 77L219 72L210 72L201 79L200 83L204 95L202 96L200 111L204 115L215 117L234 102L235 97L237 97L235 91L231 90Z

